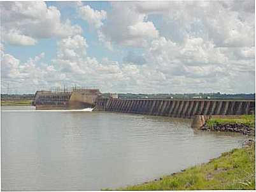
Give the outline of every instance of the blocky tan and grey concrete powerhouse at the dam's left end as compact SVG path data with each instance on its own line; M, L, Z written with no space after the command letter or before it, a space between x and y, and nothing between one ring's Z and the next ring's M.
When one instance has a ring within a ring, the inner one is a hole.
M36 91L34 105L38 110L82 109L93 107L100 97L99 89L74 89L73 91Z

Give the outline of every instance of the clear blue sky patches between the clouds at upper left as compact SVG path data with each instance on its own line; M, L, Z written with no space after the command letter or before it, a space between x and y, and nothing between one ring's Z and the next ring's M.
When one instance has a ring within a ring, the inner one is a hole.
M104 57L109 57L112 60L122 61L122 55L114 54L112 51L104 48L97 41L97 34L95 30L92 29L87 22L79 18L76 14L75 6L70 6L70 4L75 4L69 2L69 5L65 5L64 2L46 2L47 6L56 6L61 14L61 19L69 19L73 25L77 24L82 27L83 37L86 37L87 43L90 46L88 50L89 56L97 57L99 59ZM111 6L107 1L98 1L98 2L84 2L83 4L89 5L96 10L111 10ZM5 46L8 53L14 54L21 61L26 61L29 57L34 57L42 52L45 52L45 62L50 62L50 60L55 56L56 53L56 37L40 39L40 41L34 46L11 46L7 44ZM126 52L126 50L124 50Z

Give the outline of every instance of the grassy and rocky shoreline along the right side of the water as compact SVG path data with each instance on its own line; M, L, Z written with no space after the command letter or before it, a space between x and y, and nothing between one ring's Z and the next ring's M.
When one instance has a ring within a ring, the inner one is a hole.
M242 148L224 152L207 163L117 190L255 189L255 115L210 118L199 131L240 132L248 139Z

